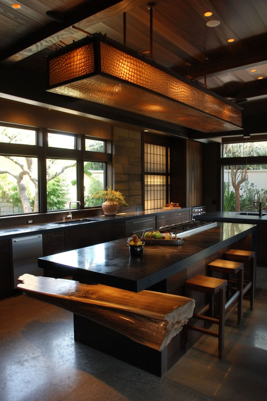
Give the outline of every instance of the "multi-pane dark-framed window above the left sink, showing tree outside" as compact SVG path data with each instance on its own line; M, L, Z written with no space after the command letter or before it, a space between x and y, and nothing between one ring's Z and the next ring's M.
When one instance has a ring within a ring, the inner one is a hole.
M70 201L95 207L90 193L111 182L111 141L7 124L0 142L0 216L64 210Z

